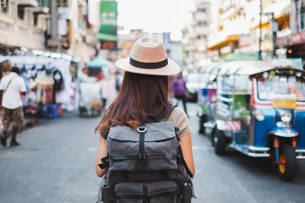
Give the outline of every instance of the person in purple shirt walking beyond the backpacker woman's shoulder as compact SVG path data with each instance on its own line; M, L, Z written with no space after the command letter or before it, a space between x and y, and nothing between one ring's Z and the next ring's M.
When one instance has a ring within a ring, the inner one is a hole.
M172 80L171 83L171 93L172 97L175 97L178 101L182 100L184 110L187 113L187 94L188 89L186 87L187 81L182 78L182 73L179 73L176 78ZM176 104L178 105L178 104Z

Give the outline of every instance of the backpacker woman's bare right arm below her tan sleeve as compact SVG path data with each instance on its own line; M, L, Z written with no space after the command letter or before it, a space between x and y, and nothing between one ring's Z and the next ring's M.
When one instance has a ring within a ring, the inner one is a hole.
M192 150L191 132L189 134L187 134L186 136L180 138L180 140L181 140L180 146L182 149L184 159L187 162L190 170L195 175L195 165L194 165L193 150Z

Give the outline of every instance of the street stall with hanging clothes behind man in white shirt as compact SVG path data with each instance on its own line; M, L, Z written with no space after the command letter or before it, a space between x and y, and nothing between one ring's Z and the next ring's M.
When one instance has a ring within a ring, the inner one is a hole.
M71 56L33 50L24 55L0 55L0 62L0 79L11 67L19 67L27 88L22 100L26 118L57 118L63 116L63 110L75 108L73 78L77 75L71 70Z

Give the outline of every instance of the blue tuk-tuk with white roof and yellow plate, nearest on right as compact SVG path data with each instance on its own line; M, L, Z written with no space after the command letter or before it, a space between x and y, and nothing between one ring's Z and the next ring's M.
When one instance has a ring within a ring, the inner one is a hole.
M292 181L305 158L305 72L263 61L231 61L218 75L215 152L271 158ZM304 138L302 138L304 137Z

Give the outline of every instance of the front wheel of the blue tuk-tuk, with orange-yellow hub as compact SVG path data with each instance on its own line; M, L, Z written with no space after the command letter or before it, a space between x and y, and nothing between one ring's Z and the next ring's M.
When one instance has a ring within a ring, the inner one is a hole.
M278 164L278 174L283 181L292 181L296 174L295 149L290 145L284 145L280 151L280 163Z

